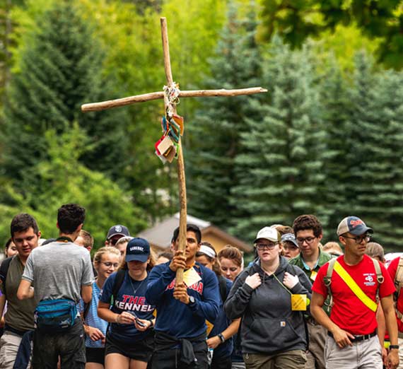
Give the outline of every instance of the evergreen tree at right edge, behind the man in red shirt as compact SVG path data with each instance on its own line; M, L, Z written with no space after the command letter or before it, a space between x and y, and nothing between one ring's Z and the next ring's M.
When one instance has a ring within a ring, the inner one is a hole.
M398 246L403 235L402 81L401 73L377 73L373 61L358 54L345 143L347 208L341 216L363 218L385 247Z

